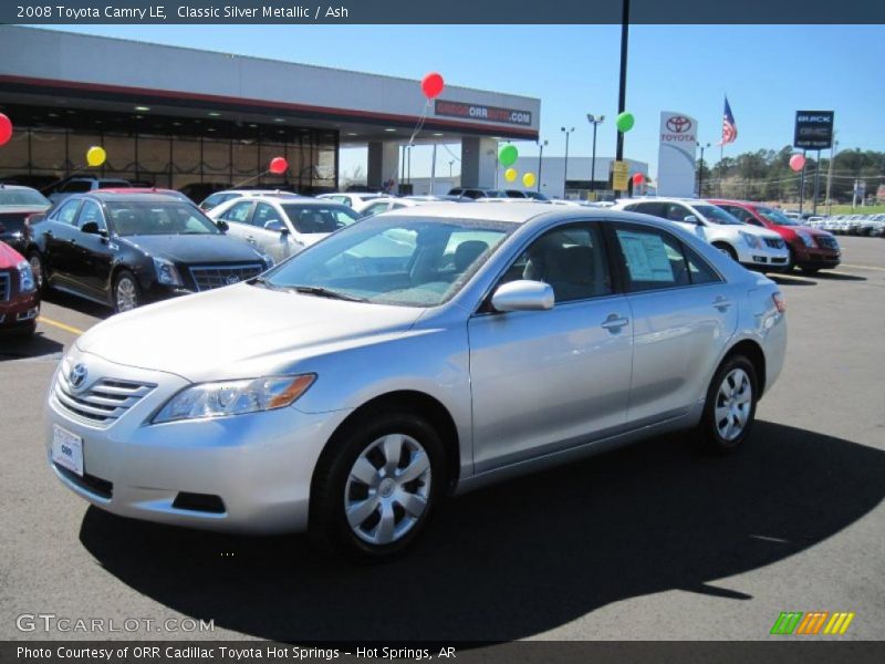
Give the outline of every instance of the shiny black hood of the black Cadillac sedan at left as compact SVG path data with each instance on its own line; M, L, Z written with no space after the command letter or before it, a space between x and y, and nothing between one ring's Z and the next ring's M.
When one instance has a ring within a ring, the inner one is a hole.
M140 235L116 239L149 256L180 263L257 262L261 258L242 240L226 235Z

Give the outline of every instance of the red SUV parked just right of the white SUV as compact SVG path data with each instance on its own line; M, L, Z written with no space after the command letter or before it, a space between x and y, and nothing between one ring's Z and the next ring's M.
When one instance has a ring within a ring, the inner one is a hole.
M803 272L813 274L821 269L835 268L840 262L839 241L833 234L802 226L763 203L721 199L710 199L709 203L731 212L745 224L762 226L780 235L790 250L787 272L798 266Z

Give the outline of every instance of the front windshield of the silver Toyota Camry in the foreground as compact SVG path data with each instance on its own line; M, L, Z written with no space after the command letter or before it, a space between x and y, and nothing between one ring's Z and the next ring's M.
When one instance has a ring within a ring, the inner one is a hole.
M260 282L378 304L436 307L450 299L518 225L374 217L308 247Z

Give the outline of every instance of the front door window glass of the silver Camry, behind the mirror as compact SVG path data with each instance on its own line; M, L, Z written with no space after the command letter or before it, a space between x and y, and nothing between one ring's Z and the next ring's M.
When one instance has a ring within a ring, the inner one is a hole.
M558 303L610 294L612 280L598 228L572 224L546 231L513 262L502 282L518 279L549 283Z

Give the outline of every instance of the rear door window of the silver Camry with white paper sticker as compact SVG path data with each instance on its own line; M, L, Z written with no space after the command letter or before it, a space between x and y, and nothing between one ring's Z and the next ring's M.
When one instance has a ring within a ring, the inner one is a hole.
M689 286L691 278L683 245L673 236L648 227L615 227L617 250L624 266L627 291Z

